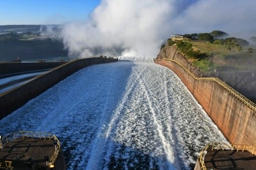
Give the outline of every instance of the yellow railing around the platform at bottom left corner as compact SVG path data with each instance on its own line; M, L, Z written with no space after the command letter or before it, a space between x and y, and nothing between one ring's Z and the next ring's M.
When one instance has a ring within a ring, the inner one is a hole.
M58 138L53 135L52 133L46 133L46 132L33 132L33 131L18 131L18 132L13 132L7 136L4 136L1 140L2 147L10 141L13 141L17 138L40 138L44 140L55 140L57 141L57 145L55 146L55 152L53 153L52 157L50 158L50 161L47 161L47 166L54 165L58 153L61 150L61 142L58 140ZM0 148L1 149L1 148Z

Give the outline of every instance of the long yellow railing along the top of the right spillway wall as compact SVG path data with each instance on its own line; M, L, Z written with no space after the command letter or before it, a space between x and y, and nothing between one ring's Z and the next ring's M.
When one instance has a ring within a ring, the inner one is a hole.
M193 73L191 73L189 69L187 69L184 65L182 65L179 61L176 61L176 60L173 60L173 59L156 59L156 60L167 60L167 61L174 62L175 64L178 64L188 74L190 74L195 80L199 80L199 81L202 81L202 80L214 81L215 83L217 83L218 85L223 87L225 90L227 90L230 94L235 96L238 100L242 101L244 105L248 106L250 109L252 109L254 112L256 112L256 104L254 102L252 102L249 99L247 99L247 97L243 96L237 90L234 90L232 87L230 87L229 85L227 85L226 83L224 83L220 79L218 79L218 78L198 78Z

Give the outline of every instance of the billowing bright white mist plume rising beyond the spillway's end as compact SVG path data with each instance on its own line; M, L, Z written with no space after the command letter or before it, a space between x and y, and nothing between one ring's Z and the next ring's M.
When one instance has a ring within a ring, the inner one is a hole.
M101 52L156 56L169 35L168 20L173 11L168 0L104 0L88 22L65 25L63 42L70 55L80 57Z

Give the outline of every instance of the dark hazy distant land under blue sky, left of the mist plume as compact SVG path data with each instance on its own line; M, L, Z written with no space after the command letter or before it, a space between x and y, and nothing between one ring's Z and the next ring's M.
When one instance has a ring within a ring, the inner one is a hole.
M60 25L0 25L0 61L67 56L62 39L52 39L60 32Z

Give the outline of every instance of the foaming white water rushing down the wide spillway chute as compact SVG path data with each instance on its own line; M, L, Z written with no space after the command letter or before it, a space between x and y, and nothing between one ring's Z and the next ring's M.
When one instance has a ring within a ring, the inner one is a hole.
M0 133L46 131L68 169L190 169L227 142L173 71L134 58L77 71L0 121Z

